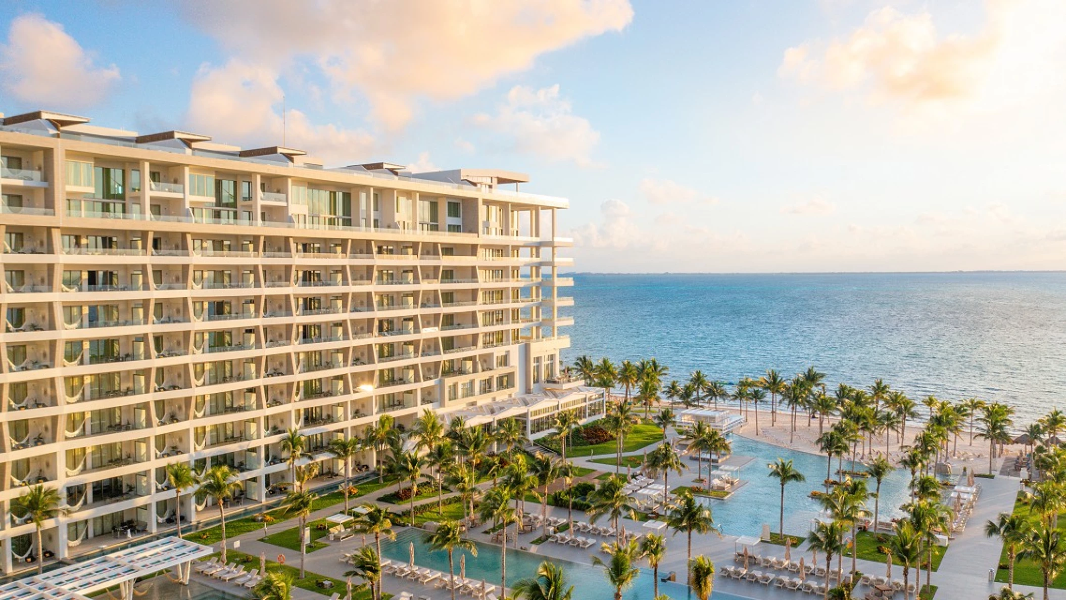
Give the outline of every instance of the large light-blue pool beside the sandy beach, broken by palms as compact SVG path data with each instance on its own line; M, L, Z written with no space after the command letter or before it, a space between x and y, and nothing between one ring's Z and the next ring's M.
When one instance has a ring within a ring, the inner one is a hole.
M804 426L804 425L800 425ZM812 425L817 427L818 425ZM803 472L807 481L792 483L785 487L785 531L793 535L806 534L810 530L810 521L818 516L820 507L817 501L809 497L813 489L822 489L825 479L825 456L806 452L784 449L777 445L754 439L733 436L733 456L748 456L753 460L744 465L740 477L746 482L732 497L727 500L701 498L710 506L714 522L726 535L755 535L762 533L762 524L777 531L777 520L780 510L781 487L776 479L769 476L766 465L777 457L792 459L792 465ZM695 470L696 463L687 460L689 468ZM844 469L851 468L851 461L844 459ZM707 467L704 467L705 473ZM861 467L856 465L856 469ZM833 461L833 471L837 470L837 460ZM907 482L910 473L897 469L881 484L881 520L902 515L900 505L908 499ZM870 491L873 492L876 483L869 480ZM867 508L873 514L874 502L871 499Z

